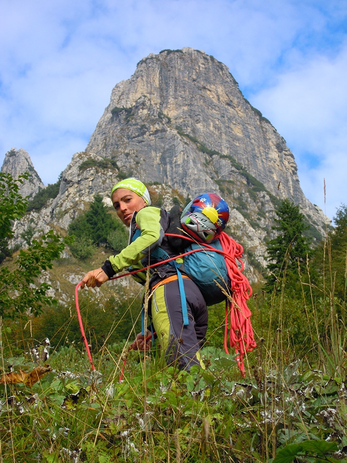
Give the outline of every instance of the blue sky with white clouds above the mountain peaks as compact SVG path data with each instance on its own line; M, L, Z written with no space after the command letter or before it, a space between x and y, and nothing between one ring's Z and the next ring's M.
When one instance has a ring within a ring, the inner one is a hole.
M151 52L185 46L229 67L333 218L347 203L347 0L4 0L0 165L23 148L55 183L116 83Z

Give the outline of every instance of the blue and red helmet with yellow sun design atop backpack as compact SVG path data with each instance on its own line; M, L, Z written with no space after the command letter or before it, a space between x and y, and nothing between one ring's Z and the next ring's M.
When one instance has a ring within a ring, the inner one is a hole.
M181 214L181 225L198 241L210 243L222 233L229 219L227 203L215 193L193 199Z

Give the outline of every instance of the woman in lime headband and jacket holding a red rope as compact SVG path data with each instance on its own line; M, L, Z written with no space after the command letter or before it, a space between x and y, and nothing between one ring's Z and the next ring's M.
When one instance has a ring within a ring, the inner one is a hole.
M165 259L164 255L177 255L165 236L170 223L169 214L165 209L151 206L148 189L142 182L134 177L120 181L112 188L111 198L118 217L130 227L130 244L116 256L109 257L100 269L88 272L81 281L81 288L100 287L123 269L145 268L161 262ZM136 280L144 284L146 275L147 272L140 272L136 274ZM174 265L159 264L151 269L149 316L167 363L177 362L179 369L189 370L191 365L204 367L199 349L204 344L208 313L196 284L186 275L182 283L185 301L181 300L182 292ZM187 323L182 314L184 302L187 305ZM150 334L149 330L145 336L144 333L138 334L131 347L148 350L151 340L145 344L145 338Z

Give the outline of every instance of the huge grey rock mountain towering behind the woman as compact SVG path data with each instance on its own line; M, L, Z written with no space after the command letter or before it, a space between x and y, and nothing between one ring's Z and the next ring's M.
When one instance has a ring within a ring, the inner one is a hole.
M184 204L204 191L221 194L250 280L265 266L279 200L300 205L313 237L329 220L305 198L285 140L243 97L228 68L191 48L143 58L114 87L85 152L62 173L58 197L27 220L38 229L67 228L95 194L111 205L112 185L129 175L150 185L167 208L174 198Z

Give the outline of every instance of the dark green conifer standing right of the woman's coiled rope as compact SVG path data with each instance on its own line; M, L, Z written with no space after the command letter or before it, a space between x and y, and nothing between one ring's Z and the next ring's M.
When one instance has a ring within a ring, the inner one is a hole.
M309 227L305 225L304 215L298 205L285 199L276 210L277 226L272 229L278 232L276 238L267 243L267 288L273 289L277 282L298 280L298 263L304 264L310 254L309 240L304 236L304 231Z

